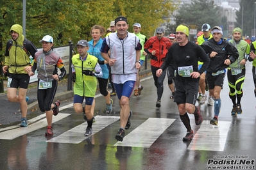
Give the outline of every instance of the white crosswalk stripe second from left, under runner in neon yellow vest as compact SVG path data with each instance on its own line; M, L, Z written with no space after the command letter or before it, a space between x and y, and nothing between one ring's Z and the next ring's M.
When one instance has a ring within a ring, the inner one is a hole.
M96 134L99 130L107 127L108 125L119 120L119 116L95 116L96 123L92 125L92 134ZM67 132L64 132L57 137L53 137L48 140L48 143L81 143L83 140L90 136L85 136L85 128L87 127L87 122L82 123L74 128L71 128Z

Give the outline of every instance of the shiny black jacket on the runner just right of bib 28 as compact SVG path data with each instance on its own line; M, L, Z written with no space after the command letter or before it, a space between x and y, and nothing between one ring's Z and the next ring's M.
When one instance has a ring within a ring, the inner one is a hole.
M218 52L214 58L210 58L210 65L207 68L207 72L218 72L228 67L224 64L226 59L230 59L231 63L234 63L235 60L239 57L239 53L232 43L223 40L222 43L218 45L214 38L201 44L203 50L210 58L211 52Z

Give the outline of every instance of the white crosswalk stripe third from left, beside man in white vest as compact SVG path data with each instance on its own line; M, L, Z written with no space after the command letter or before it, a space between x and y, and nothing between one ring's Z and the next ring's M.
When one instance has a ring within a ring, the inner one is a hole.
M125 135L123 142L117 142L114 146L149 148L174 121L175 119L148 118L130 134Z

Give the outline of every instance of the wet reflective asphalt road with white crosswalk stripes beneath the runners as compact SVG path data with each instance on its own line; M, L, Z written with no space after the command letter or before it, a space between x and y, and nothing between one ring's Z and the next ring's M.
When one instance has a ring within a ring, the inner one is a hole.
M130 98L132 126L125 131L123 143L115 140L120 111L117 97L113 97L112 114L106 116L105 100L97 95L96 123L90 137L83 135L86 123L81 114L74 113L69 98L54 117L53 137L44 136L45 114L38 111L29 112L33 119L28 128L19 128L19 124L0 127L0 169L255 169L256 99L252 65L246 65L243 114L230 115L232 102L225 79L219 126L209 124L214 107L200 105L204 120L200 126L189 115L195 134L192 141L182 141L186 130L176 104L169 98L167 79L158 109L157 90L148 75L142 78L142 95Z

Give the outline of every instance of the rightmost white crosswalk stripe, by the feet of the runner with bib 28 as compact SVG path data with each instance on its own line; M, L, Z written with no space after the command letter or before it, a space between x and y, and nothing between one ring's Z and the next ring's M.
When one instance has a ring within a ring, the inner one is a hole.
M219 121L213 126L210 121L203 121L189 144L188 150L223 151L231 121Z

